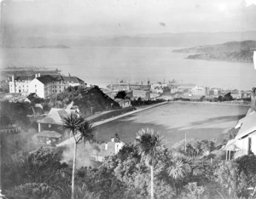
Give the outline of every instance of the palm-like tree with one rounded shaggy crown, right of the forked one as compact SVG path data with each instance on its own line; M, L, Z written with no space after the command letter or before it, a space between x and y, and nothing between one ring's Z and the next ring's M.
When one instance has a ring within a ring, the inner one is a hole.
M153 129L141 129L136 139L136 148L140 156L142 156L146 165L150 167L151 173L151 198L154 199L154 163L157 159L158 151L161 146L160 133L154 134Z

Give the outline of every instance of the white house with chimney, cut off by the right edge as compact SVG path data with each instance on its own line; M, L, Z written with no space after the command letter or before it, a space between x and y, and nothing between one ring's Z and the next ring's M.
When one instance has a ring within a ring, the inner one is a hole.
M225 145L227 159L245 156L250 153L256 155L256 88L253 88L251 108L247 111L246 117L241 118L236 124L239 129L236 138L231 139Z

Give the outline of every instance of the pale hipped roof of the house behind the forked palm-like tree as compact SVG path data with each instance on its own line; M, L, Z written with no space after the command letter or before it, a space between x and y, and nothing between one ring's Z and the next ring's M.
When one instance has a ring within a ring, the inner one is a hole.
M41 120L38 120L38 123L48 123L48 124L63 124L63 118L67 117L69 114L74 113L75 110L67 110L67 109L57 109L51 108L47 117L44 117Z

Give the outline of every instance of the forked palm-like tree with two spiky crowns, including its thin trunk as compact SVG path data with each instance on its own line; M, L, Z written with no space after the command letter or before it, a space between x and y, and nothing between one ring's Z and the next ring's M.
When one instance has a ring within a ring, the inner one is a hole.
M83 139L91 141L95 127L92 123L84 120L84 117L79 117L77 114L70 114L63 119L63 128L70 130L74 139L74 156L73 156L73 171L72 171L72 192L71 198L74 199L74 173L76 168L77 145Z

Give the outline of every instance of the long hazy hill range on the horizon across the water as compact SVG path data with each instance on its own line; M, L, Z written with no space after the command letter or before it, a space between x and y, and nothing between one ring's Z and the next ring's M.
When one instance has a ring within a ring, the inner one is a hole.
M15 31L12 31L15 32ZM25 34L25 33L24 33ZM22 35L20 33L20 35ZM134 36L114 37L20 37L15 33L3 39L3 47L49 47L61 43L67 47L189 47L213 45L232 41L255 40L256 31L240 32L183 32L141 34Z

